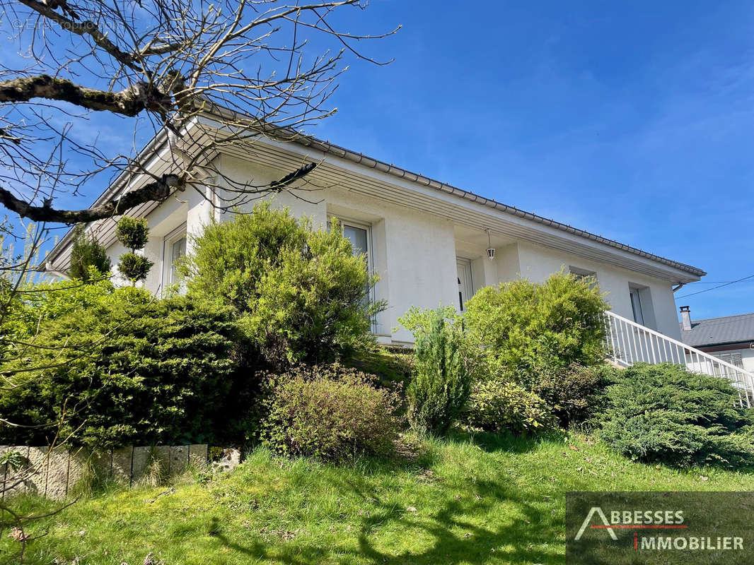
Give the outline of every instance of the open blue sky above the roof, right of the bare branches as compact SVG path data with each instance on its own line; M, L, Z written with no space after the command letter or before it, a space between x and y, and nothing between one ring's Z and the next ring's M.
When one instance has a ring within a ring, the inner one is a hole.
M754 274L751 2L372 1L370 44L314 133L693 264ZM716 286L697 283L677 296ZM754 311L754 279L680 298Z

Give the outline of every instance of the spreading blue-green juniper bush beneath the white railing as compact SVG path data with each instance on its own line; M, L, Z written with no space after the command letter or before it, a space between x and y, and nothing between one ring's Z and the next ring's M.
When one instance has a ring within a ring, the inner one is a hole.
M737 408L738 393L727 380L670 364L621 372L608 387L600 432L615 450L679 466L754 463L754 414Z

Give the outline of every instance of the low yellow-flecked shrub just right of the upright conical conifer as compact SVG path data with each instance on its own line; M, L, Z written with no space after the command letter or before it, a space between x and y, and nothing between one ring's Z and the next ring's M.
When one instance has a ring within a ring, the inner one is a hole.
M488 432L515 434L544 432L556 425L547 402L519 384L486 380L474 385L467 419L471 426Z

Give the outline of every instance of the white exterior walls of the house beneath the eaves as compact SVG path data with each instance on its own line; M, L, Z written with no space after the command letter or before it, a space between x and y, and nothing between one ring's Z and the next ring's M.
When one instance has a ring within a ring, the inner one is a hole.
M220 167L231 179L248 179L254 185L265 185L280 179L286 172L255 165L248 160L223 155ZM221 179L222 182L222 179ZM680 331L670 282L654 279L634 271L624 270L604 262L590 261L532 243L508 243L496 249L495 258L489 260L486 249L470 253L468 246L456 250L452 221L440 215L415 208L389 203L363 191L349 190L344 179L338 187L320 191L299 191L300 197L289 192L268 197L273 206L287 206L294 216L307 216L314 229L326 229L330 217L341 218L345 223L354 221L366 224L371 230L370 265L380 277L374 298L386 301L387 310L379 314L375 332L381 341L410 342L412 335L403 329L392 331L397 318L412 306L434 308L458 303L456 256L470 259L474 292L483 286L498 284L523 276L540 282L563 268L578 267L596 272L599 289L613 310L629 319L631 311L630 283L647 287L642 295L645 324L670 337L679 338ZM232 212L219 212L208 198L214 198L204 188L189 189L178 198L162 203L148 216L150 241L144 250L155 262L144 286L158 293L164 288L165 273L170 269L170 255L165 257L164 238L185 224L188 234L187 251L191 252L192 235L201 234L213 218L232 218ZM179 200L180 199L180 200ZM247 203L249 211L254 202ZM112 264L125 250L115 243L108 249ZM754 352L752 352L754 363Z

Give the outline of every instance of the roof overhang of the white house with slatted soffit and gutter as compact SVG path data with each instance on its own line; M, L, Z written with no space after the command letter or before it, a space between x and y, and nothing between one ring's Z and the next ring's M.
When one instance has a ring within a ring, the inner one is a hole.
M192 139L192 145L197 146L210 136L222 137L229 132L229 128L223 123L222 116L206 114L195 118L186 132L185 137ZM265 127L259 130L254 139L224 146L219 151L269 166L284 174L298 169L303 161L313 160L319 165L310 175L329 185L379 197L400 206L410 206L472 227L489 229L507 237L615 264L674 284L694 282L706 274L697 267L525 212L293 130ZM140 151L137 159L145 163L145 169L153 175L166 173L170 163L174 162L170 157L167 133L161 132L155 136ZM97 198L95 204L138 188L139 184L148 180L149 177L143 174L134 176L123 173ZM157 203L146 203L128 213L143 216L156 206ZM99 224L93 231L102 238L104 245L109 245L114 221L105 220ZM70 233L66 234L48 255L48 261L57 269L66 267L70 237Z

